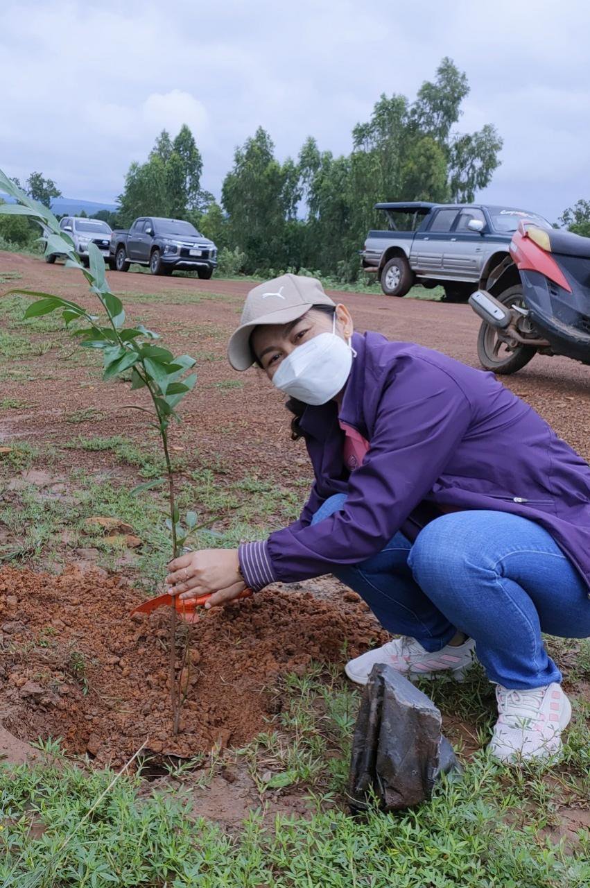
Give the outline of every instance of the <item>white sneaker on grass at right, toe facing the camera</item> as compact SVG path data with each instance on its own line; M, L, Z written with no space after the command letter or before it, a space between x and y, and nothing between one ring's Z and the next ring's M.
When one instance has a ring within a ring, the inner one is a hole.
M571 704L555 684L515 691L496 686L500 718L488 751L500 762L550 758L562 749L562 731L571 718Z

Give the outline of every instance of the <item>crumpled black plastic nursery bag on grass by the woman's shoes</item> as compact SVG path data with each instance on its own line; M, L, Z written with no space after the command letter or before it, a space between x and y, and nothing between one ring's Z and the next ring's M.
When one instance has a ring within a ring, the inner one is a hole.
M372 793L385 811L428 801L440 773L459 767L441 725L426 694L390 666L375 665L352 743L351 810L365 810Z

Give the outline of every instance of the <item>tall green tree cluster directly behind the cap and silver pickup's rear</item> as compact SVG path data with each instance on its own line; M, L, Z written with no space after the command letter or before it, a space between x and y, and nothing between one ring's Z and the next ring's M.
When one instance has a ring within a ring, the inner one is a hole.
M354 279L366 232L383 222L376 202L470 202L491 181L498 132L489 123L455 131L468 91L467 76L443 59L413 102L383 93L340 157L310 137L296 163L281 164L258 129L224 180L227 245L245 253L247 271L292 266Z

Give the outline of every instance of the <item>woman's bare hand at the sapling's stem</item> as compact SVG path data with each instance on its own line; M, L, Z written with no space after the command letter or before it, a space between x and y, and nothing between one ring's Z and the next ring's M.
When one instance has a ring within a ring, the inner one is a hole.
M193 599L199 595L211 598L205 607L223 605L237 598L246 589L240 576L237 549L201 549L187 552L169 563L166 583L171 595Z

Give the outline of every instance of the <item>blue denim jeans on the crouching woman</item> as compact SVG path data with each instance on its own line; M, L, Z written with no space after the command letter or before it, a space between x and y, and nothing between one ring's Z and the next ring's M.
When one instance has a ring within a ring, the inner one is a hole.
M340 511L326 500L312 524ZM541 632L590 637L586 585L553 537L502 511L458 511L424 527L412 544L397 533L385 548L336 576L365 599L382 626L438 651L465 632L491 681L525 689L561 681Z

